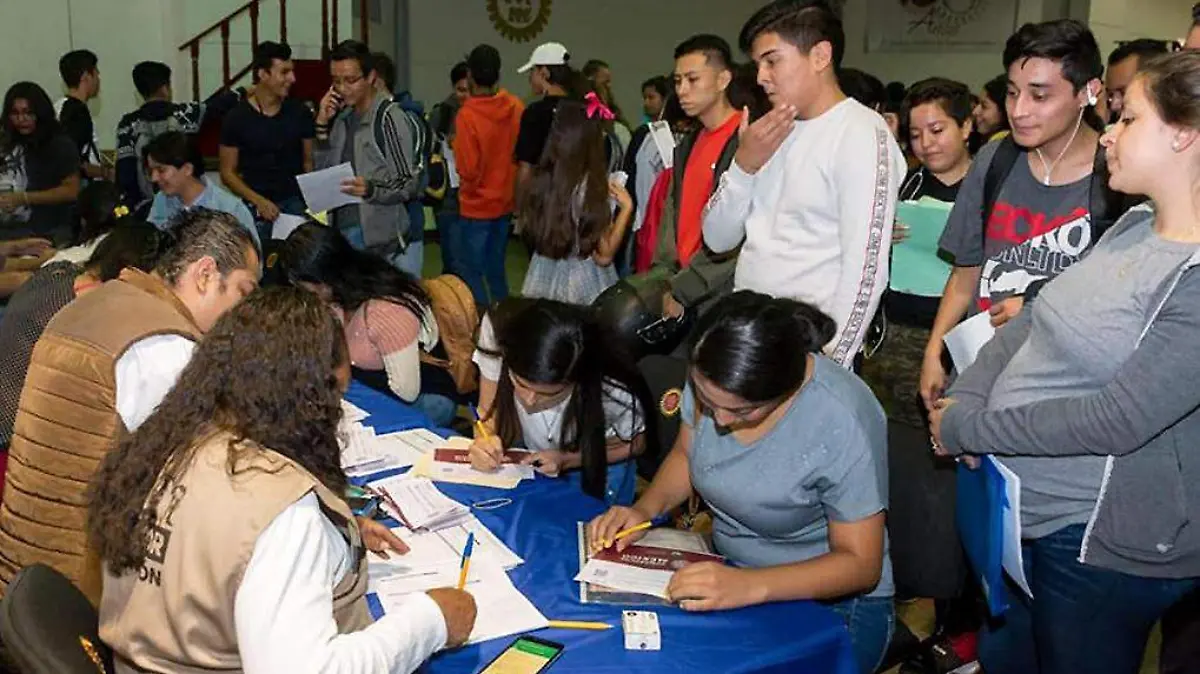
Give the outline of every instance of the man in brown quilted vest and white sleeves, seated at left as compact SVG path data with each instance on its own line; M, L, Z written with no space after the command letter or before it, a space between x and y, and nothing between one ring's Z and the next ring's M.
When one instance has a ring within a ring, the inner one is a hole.
M0 591L41 562L100 602L88 482L170 390L196 339L258 287L258 253L233 216L198 209L172 229L152 273L126 269L71 302L34 348L0 503Z

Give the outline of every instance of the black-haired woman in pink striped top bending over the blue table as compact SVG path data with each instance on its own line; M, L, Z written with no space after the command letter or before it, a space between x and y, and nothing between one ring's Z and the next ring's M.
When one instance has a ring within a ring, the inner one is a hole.
M421 365L439 335L430 296L415 278L314 222L298 227L280 247L280 269L334 309L355 378L416 407L437 426L454 420L454 381L445 369Z

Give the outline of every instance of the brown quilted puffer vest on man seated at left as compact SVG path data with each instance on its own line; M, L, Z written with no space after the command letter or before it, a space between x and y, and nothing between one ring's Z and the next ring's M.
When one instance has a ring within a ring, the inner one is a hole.
M0 592L17 571L46 564L98 603L88 547L86 489L125 434L116 361L154 335L198 339L191 312L156 277L126 269L50 319L34 347L17 407L0 503Z

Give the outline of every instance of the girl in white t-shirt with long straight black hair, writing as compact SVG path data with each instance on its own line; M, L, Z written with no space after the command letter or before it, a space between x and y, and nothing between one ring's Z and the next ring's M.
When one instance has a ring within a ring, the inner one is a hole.
M588 495L630 504L634 458L646 446L644 381L613 360L589 309L512 299L479 332L479 407L470 462L496 470L506 447L533 452L542 475L565 475Z

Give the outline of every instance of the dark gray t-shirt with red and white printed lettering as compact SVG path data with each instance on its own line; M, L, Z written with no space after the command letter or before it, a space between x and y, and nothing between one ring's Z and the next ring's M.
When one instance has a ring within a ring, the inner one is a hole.
M984 182L998 144L986 145L971 164L938 241L956 266L983 266L976 311L1058 276L1093 243L1091 176L1048 187L1033 177L1026 155L1001 186L984 236Z

